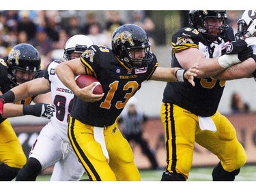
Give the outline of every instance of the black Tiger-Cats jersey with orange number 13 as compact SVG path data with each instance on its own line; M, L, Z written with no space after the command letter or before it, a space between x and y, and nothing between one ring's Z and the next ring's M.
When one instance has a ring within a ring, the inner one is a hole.
M152 54L152 53L150 53ZM102 84L104 97L94 103L86 103L74 97L70 115L91 126L110 126L124 109L128 99L150 80L158 62L156 56L144 69L129 69L117 60L112 50L104 46L91 46L81 56L85 71Z

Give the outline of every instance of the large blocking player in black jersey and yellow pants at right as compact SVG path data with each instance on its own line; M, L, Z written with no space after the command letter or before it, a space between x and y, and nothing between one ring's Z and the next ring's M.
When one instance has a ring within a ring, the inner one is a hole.
M231 122L217 111L225 81L212 76L249 58L251 48L239 47L233 54L221 56L235 39L226 24L226 11L194 10L189 16L193 28L180 29L172 37L171 67L187 69L198 63L199 73L193 88L187 82L168 82L165 88L160 116L167 167L161 180L188 179L195 142L221 160L212 172L213 180L234 180L246 162L246 153Z

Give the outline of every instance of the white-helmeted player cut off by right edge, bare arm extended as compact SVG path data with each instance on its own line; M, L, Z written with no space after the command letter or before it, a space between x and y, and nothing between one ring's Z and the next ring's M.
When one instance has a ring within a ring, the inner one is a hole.
M238 20L238 33L236 39L242 39L253 48L251 58L243 63L233 65L222 73L214 76L218 80L234 80L243 77L254 77L256 80L256 10L246 10Z

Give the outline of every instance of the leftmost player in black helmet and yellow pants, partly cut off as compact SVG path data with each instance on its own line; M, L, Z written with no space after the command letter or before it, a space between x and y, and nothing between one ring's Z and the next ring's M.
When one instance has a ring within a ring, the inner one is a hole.
M40 54L33 46L14 46L8 56L0 58L0 94L8 92L14 86L42 77L40 64ZM3 101L0 98L0 180L10 181L16 177L27 158L8 118L32 115L50 119L55 107L50 104L50 94L24 97L16 104L5 104L4 109ZM31 101L35 104L30 105Z

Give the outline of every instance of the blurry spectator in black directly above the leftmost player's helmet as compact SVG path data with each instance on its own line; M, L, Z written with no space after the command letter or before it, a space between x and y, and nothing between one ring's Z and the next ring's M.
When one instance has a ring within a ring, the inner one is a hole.
M36 25L32 20L29 19L29 11L20 11L20 20L18 21L18 33L20 31L25 31L27 33L28 39L33 39L35 37Z

